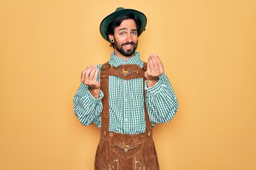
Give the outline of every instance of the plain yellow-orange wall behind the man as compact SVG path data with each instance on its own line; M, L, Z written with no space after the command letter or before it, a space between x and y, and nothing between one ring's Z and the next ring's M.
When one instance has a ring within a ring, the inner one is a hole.
M109 60L100 36L118 6L146 14L179 101L156 125L161 170L256 169L256 1L0 1L0 169L93 169L99 129L80 125L80 72Z

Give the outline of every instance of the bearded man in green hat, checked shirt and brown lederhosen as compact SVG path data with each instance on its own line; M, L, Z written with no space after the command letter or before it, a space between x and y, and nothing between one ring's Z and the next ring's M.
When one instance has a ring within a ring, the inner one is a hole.
M178 101L158 55L146 64L136 52L145 27L144 13L117 8L100 24L114 48L110 61L81 74L75 115L82 125L101 128L95 169L159 169L151 128L171 120Z

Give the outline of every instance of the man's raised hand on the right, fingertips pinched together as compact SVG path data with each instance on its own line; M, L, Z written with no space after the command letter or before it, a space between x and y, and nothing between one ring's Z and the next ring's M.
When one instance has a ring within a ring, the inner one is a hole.
M149 55L147 70L145 72L146 84L148 87L154 86L159 80L159 76L164 73L164 66L158 55Z

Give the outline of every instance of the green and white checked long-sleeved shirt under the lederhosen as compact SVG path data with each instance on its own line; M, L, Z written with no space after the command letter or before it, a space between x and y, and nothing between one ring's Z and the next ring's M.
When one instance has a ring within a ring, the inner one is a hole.
M139 58L139 52L129 60L122 60L112 52L110 65L118 67L121 64L138 64L143 67ZM100 68L98 81L100 81ZM144 86L145 85L145 86ZM148 88L143 79L124 80L119 77L109 77L109 101L110 101L110 131L124 134L139 134L146 130L144 118L144 91L146 92L146 109L149 120L154 123L166 123L174 117L178 110L178 101L169 79L165 74L159 77L159 81ZM102 113L102 97L94 98L88 91L88 86L80 84L74 96L74 110L82 125L95 123L101 127L100 115Z

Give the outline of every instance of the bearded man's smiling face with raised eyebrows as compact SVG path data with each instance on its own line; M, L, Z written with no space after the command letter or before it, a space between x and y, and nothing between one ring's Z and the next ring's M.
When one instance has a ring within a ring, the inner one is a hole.
M122 21L120 26L114 28L114 54L127 60L134 56L138 45L137 26L133 19Z

